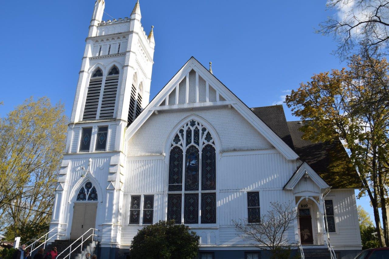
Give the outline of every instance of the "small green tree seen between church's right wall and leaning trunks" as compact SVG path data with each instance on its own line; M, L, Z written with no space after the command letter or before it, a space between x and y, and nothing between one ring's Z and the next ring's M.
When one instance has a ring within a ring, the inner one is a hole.
M374 227L369 214L361 205L358 205L357 209L359 229L361 231L362 249L380 247L378 239L372 235L374 232L377 232L377 229Z

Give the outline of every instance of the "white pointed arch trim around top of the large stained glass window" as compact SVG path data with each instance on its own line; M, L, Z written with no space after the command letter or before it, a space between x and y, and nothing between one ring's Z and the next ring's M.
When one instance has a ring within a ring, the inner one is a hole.
M217 134L217 131L215 130L215 128L207 120L205 120L203 117L198 116L196 114L191 114L189 116L186 116L182 120L180 120L173 127L173 129L170 131L170 133L169 133L169 135L168 135L168 137L166 139L166 142L165 142L165 149L164 149L165 150L165 154L169 153L169 151L170 151L170 144L172 143L172 139L175 136L175 134L177 134L177 131L180 129L180 127L182 127L182 125L184 125L184 123L187 123L190 120L196 120L196 121L202 123L209 130L210 134L212 135L212 137L214 138L214 141L215 141L216 153L219 153L219 150L221 148L221 141L220 141L220 138L219 138L219 134Z

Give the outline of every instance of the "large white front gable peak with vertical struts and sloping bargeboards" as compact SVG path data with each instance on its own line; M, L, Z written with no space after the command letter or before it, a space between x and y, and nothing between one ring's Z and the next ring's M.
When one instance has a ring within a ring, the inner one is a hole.
M298 155L194 57L173 76L126 131L128 141L153 114L172 110L234 108L288 160Z

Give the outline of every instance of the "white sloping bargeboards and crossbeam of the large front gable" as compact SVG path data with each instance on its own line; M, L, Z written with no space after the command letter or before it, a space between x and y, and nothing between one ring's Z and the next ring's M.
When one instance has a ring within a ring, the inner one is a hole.
M210 103L211 105L228 104L240 113L251 125L258 130L258 132L265 137L282 155L288 160L296 160L298 155L290 148L266 123L264 123L258 116L256 116L230 89L221 83L216 76L212 75L207 68L205 68L194 57L191 57L182 68L173 76L173 78L159 91L159 93L152 99L152 101L145 107L140 115L128 126L126 130L126 139L130 139L133 134L141 127L141 125L151 116L154 111L161 110L158 107L179 83L189 74L191 70L195 70L206 82L212 85L226 101L217 101ZM186 104L172 104L173 108L195 108L207 106L206 103L186 103ZM157 110L158 109L158 110Z

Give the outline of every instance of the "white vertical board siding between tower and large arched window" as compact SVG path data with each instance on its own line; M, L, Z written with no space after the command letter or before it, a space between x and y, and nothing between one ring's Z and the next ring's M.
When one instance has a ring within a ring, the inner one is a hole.
M124 192L152 193L163 191L164 165L162 159L129 160Z

